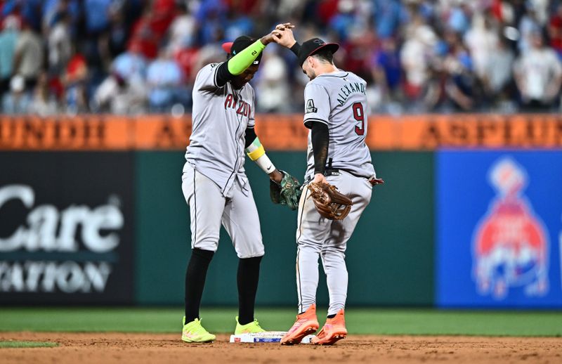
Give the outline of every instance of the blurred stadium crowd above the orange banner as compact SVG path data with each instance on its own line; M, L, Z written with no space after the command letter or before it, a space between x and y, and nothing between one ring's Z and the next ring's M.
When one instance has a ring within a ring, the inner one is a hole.
M341 45L335 63L369 82L372 112L561 108L559 0L0 0L1 112L188 112L223 41L285 21ZM258 111L301 112L306 82L268 46Z

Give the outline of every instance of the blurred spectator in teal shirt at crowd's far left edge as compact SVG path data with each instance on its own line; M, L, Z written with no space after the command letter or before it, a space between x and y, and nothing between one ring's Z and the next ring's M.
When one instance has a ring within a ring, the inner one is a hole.
M3 26L4 29L0 32L0 98L10 88L20 21L15 16L10 15L4 20Z

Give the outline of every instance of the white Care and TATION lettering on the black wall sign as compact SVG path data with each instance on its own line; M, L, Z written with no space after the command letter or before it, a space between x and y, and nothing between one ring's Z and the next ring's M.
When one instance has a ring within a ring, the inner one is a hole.
M53 204L35 206L34 190L25 185L0 187L0 209L8 201L20 202L29 214L10 236L0 237L1 253L75 253L69 254L72 259L84 251L112 252L119 245L124 218L115 205L71 205L62 211ZM0 261L0 292L103 292L110 273L106 261Z

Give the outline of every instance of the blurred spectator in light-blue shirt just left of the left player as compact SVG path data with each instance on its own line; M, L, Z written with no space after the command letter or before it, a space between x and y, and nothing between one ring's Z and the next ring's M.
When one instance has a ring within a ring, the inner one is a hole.
M158 58L150 63L146 74L150 110L169 112L175 103L180 102L179 86L182 84L182 77L181 69L171 51L161 48Z

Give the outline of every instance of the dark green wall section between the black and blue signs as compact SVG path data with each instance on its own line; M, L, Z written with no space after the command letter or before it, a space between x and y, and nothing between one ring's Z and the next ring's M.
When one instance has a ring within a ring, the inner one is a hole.
M268 152L302 180L304 152ZM349 305L433 304L433 153L373 152L377 186L348 244ZM136 152L136 302L183 303L190 252L188 207L181 193L183 152ZM266 256L257 304L296 305L296 212L269 200L268 177L254 163L247 175L260 213ZM235 305L237 257L221 233L203 304ZM320 269L321 264L320 264ZM318 303L327 303L320 275Z

